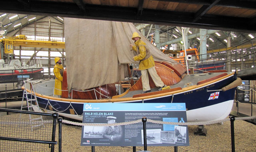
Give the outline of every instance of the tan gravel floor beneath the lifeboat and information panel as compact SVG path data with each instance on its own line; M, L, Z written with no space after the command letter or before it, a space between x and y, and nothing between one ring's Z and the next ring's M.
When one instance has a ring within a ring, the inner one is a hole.
M4 115L2 117L19 117L20 114ZM45 120L45 118L44 118ZM256 151L256 125L243 120L234 122L235 131L235 150L237 152ZM196 136L194 131L197 126L188 126L190 146L179 146L180 152L230 152L231 134L230 122L222 124L206 125L206 136ZM58 125L57 125L58 130ZM91 146L80 146L81 126L63 124L62 126L62 152L91 152ZM56 134L58 141L58 132ZM144 147L136 147L136 151L144 150ZM96 146L96 152L132 152L132 147L121 146ZM174 147L148 146L150 152L174 152ZM55 146L58 152L58 145Z

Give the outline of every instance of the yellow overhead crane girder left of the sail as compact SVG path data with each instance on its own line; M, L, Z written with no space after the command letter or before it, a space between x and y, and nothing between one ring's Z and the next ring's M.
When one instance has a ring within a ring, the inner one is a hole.
M65 49L65 42L28 40L25 35L19 35L19 36L13 36L13 37L0 36L0 42L4 43L4 53L6 54L13 54L14 46Z

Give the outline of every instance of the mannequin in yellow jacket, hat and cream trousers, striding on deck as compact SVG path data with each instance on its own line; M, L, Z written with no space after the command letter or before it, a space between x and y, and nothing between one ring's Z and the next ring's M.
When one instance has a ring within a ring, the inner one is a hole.
M159 75L156 73L155 62L150 51L146 49L146 43L141 40L141 37L137 32L134 32L132 34L132 40L134 40L135 45L130 44L130 47L132 47L134 51L137 51L137 53L139 51L139 54L134 56L133 59L134 61L140 61L139 70L141 71L141 80L143 87L142 93L149 93L151 91L148 73L152 77L152 80L154 81L156 87L159 88L158 91L161 91L163 87L165 87L165 85Z

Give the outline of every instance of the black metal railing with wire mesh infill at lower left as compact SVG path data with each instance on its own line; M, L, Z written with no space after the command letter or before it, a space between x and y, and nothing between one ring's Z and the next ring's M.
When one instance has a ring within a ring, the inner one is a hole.
M56 134L56 122L58 113L41 113L33 111L21 111L13 109L2 109L7 113L31 114L52 117L52 120L31 121L28 118L0 117L0 149L1 151L51 151L54 152ZM46 118L47 119L47 118ZM32 129L32 123L43 124ZM58 119L59 125L62 119ZM19 146L16 146L19 145ZM42 146L45 145L45 146ZM49 145L49 146L47 146ZM61 127L59 128L59 152L61 152Z

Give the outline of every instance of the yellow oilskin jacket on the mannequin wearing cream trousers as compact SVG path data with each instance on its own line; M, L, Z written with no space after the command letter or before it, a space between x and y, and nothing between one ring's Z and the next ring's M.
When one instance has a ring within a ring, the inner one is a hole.
M139 70L146 70L150 67L155 66L154 59L150 52L146 52L146 43L139 39L138 41L134 42L135 45L132 46L134 51L140 51L140 53L133 57L134 61L140 61ZM149 51L149 50L147 50ZM150 56L149 56L150 55ZM149 57L148 57L149 56Z

